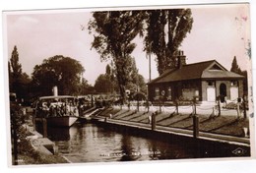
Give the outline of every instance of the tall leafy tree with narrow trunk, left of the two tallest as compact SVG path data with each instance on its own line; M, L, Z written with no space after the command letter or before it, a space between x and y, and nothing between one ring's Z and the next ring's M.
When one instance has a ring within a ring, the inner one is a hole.
M127 62L136 44L133 39L143 33L143 11L94 12L89 23L90 33L95 31L92 47L100 54L101 60L111 59L122 99L126 98L125 86L129 71Z

